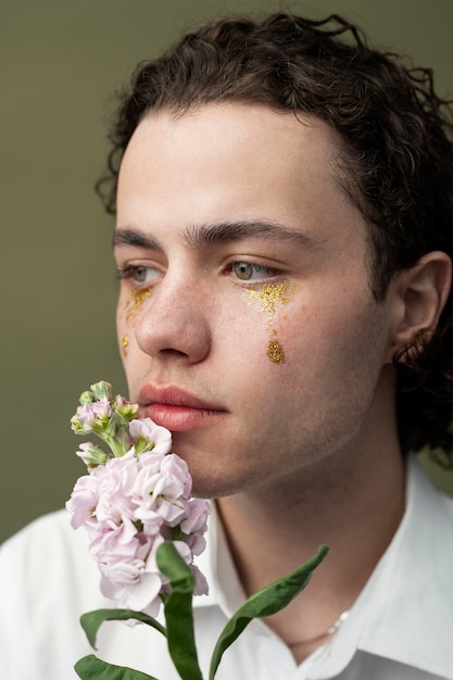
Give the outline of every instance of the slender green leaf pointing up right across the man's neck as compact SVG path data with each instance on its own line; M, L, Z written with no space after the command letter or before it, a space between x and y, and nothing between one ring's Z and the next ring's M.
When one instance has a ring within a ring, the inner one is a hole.
M309 583L313 571L329 549L322 545L317 554L281 579L254 593L229 619L222 631L211 657L209 680L213 680L224 652L239 638L254 618L272 616L284 609Z

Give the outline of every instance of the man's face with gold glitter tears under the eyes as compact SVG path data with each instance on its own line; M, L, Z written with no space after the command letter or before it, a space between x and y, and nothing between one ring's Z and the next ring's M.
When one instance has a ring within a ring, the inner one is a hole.
M239 103L148 116L129 142L118 342L200 495L302 478L381 427L390 307L336 158L324 123Z

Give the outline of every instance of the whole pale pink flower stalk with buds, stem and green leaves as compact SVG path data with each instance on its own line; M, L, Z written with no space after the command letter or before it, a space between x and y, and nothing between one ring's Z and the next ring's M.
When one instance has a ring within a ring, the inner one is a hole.
M66 507L73 528L88 533L102 593L117 605L84 614L80 624L95 650L105 620L150 626L166 638L181 680L203 680L192 599L207 593L207 583L193 558L205 547L210 506L191 496L191 477L187 464L171 452L171 432L150 418L136 419L137 414L137 404L114 396L112 386L101 381L83 392L71 419L76 435L95 435L106 446L80 445L77 455L88 475L77 480ZM287 606L327 552L322 545L307 563L247 600L218 638L209 680L250 621ZM162 605L165 626L155 619ZM77 662L75 670L83 680L159 680L93 654Z

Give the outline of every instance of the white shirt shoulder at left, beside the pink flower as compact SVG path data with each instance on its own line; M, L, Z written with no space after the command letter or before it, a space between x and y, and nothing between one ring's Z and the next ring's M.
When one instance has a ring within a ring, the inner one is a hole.
M72 529L66 511L0 546L0 677L75 678L74 663L91 651L79 617L108 603L86 533Z

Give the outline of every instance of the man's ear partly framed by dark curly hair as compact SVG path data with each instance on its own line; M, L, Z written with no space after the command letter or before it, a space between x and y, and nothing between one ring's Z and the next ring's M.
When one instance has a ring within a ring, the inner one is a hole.
M424 255L416 265L397 275L392 288L394 314L388 361L418 332L436 329L452 284L452 261L441 251ZM415 348L414 348L415 349Z

